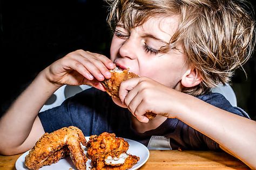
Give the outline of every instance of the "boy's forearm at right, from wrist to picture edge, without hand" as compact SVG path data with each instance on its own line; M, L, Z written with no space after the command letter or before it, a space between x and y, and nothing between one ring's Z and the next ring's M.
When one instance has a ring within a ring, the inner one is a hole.
M227 152L256 168L256 122L187 96L177 118L216 141ZM187 100L187 101L186 101Z

